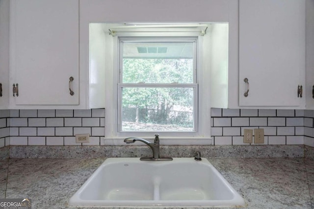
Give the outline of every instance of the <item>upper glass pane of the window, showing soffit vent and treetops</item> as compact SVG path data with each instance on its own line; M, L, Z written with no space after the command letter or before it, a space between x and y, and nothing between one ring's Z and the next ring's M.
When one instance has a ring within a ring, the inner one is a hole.
M123 83L193 83L193 43L123 44Z

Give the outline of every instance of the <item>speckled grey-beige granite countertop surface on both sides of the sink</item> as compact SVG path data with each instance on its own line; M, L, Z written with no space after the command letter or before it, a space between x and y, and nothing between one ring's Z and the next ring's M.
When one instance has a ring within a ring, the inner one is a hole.
M250 209L313 209L314 161L305 158L207 158ZM0 161L0 198L31 198L32 209L65 209L105 158Z

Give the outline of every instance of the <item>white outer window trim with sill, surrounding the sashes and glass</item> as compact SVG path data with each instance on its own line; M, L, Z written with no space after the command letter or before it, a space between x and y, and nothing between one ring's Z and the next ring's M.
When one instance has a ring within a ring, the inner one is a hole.
M186 35L188 36L188 35ZM131 37L129 37L131 38ZM177 145L192 145L192 144L211 144L210 138L210 84L209 84L209 69L204 68L209 66L208 57L203 58L203 38L199 36L196 42L197 72L196 81L198 86L198 116L196 116L197 130L194 132L119 132L118 131L118 81L119 81L119 39L128 39L127 37L108 36L106 37L106 80L105 80L105 145L124 145L123 139L127 137L141 137L144 139L154 139L154 134L160 136L160 144L177 144ZM143 37L143 39L145 39ZM150 40L152 37L149 38ZM163 38L158 37L157 40ZM195 37L184 37L185 39L194 39ZM167 38L165 38L167 40ZM169 37L168 37L169 40ZM180 40L178 38L177 40ZM112 51L108 48L112 47Z

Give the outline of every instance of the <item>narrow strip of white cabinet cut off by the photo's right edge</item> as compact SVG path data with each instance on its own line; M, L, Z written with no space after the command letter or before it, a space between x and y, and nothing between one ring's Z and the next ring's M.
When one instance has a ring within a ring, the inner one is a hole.
M314 110L314 0L306 0L306 109Z

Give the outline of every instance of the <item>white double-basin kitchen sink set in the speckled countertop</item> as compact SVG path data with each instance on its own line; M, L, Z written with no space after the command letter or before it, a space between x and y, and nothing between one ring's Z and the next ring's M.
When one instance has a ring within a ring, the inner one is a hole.
M240 207L243 198L205 158L108 158L69 201L74 207Z

